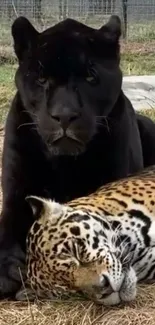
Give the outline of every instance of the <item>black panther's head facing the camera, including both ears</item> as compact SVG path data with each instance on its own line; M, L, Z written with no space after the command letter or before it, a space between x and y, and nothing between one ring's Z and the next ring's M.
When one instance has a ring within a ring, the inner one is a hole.
M121 24L99 30L67 19L42 33L24 17L12 26L16 86L47 150L83 152L121 92Z

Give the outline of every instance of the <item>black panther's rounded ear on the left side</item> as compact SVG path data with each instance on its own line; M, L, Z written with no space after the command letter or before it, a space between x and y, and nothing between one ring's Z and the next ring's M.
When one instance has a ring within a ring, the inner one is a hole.
M26 51L35 44L39 32L25 17L18 17L12 24L14 49L19 61L22 61Z

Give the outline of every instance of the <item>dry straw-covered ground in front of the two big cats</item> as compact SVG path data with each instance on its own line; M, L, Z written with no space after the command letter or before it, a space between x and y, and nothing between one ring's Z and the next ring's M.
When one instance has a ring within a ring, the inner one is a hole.
M0 167L3 139L0 128ZM82 300L0 301L0 325L155 325L155 284L139 287L134 302L115 308Z

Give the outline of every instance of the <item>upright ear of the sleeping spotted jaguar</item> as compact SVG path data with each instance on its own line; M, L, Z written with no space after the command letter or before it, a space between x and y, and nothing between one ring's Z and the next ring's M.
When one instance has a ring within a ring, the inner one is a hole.
M25 200L29 203L34 219L39 219L43 214L45 202L37 196L27 196Z

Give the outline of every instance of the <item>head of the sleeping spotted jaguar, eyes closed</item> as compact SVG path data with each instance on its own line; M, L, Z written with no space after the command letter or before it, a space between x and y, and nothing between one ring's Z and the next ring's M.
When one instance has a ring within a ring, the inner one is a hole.
M80 292L103 304L135 297L136 275L123 265L106 219L38 197L27 200L35 217L27 238L28 279L38 296Z

